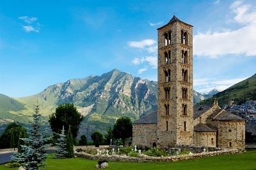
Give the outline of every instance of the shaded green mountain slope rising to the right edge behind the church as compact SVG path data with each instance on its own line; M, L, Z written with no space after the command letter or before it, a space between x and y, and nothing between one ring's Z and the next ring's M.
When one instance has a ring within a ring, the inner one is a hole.
M228 104L228 101L231 100L235 104L243 104L249 100L256 100L256 74L215 94L210 99L201 101L200 104L209 104L213 98L217 98L221 105Z

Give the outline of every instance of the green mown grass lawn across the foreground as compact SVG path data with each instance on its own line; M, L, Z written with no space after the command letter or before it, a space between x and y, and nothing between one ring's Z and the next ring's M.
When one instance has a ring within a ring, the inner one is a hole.
M74 159L52 159L50 155L47 159L47 169L61 169L61 170L74 170L74 169L95 169L97 164L95 160L74 158ZM3 165L2 169L17 169L6 168ZM160 170L160 169L256 169L256 151L244 152L237 155L220 155L216 157L205 157L202 159L182 160L179 162L156 162L156 163L130 163L130 162L109 162L108 169L147 169L147 170Z

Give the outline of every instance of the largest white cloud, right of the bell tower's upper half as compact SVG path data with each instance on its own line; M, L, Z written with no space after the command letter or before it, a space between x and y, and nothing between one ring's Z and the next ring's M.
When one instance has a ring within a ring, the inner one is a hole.
M194 54L219 57L220 55L256 55L256 11L250 4L234 2L230 9L235 14L233 22L240 24L236 30L199 33L194 36Z

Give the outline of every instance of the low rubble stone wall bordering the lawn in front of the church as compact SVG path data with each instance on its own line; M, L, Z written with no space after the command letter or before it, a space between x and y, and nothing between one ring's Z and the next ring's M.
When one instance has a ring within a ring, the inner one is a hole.
M147 155L140 155L139 157L128 157L123 155L91 155L89 153L75 153L77 157L93 160L108 160L120 162L175 162L178 160L188 160L201 157L211 157L215 155L225 155L240 153L237 149L219 150L212 152L193 153L191 155L174 155L171 157L149 157Z

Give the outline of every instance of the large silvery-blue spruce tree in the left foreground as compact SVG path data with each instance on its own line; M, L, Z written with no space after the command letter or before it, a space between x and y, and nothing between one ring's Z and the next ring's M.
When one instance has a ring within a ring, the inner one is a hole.
M50 145L45 144L49 138L44 137L46 129L42 129L42 116L39 113L39 106L35 106L33 113L33 123L29 129L29 137L22 138L24 145L21 145L21 151L13 155L12 160L24 164L25 169L37 170L44 167L44 161L47 157L45 149Z

